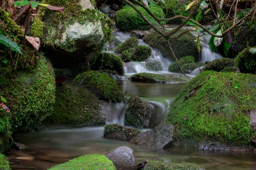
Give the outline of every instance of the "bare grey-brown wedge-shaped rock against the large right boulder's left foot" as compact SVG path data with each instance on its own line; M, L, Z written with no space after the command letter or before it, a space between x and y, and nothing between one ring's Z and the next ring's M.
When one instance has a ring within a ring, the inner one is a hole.
M152 130L140 133L131 139L130 144L144 145L148 147L164 148L172 144L173 126L158 125Z

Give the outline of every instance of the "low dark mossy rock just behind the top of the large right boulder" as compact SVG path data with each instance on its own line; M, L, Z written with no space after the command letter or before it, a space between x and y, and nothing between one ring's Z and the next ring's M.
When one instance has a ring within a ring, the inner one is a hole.
M235 67L235 60L230 58L215 59L205 65L203 70L222 71L226 67Z

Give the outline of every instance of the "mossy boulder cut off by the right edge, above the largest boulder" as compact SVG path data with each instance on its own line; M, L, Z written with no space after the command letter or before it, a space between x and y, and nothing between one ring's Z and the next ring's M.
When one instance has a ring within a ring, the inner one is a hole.
M250 51L256 50L256 47L245 48L236 56L236 66L242 73L256 74L256 54Z

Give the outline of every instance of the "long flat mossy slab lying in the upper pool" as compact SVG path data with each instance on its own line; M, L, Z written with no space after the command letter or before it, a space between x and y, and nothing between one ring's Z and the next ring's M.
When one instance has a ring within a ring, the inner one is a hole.
M175 75L161 75L154 73L137 73L131 76L132 81L137 82L152 82L152 83L180 83L187 80Z

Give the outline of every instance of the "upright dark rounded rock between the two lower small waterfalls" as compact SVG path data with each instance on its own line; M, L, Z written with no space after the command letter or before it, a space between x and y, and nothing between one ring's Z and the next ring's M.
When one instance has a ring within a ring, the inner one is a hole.
M125 111L125 125L139 129L148 127L151 108L148 103L138 96L131 97Z

